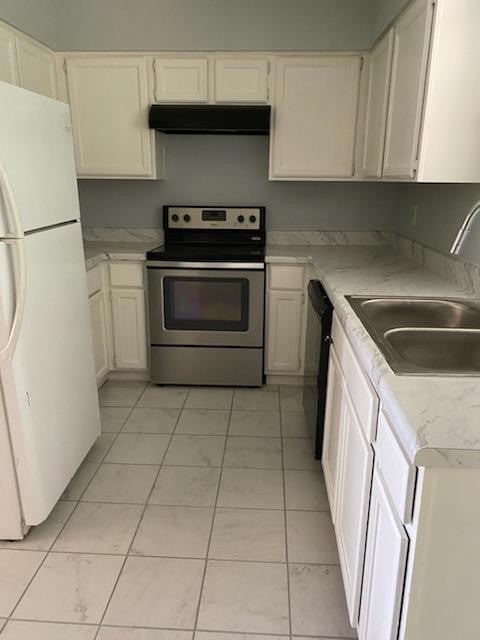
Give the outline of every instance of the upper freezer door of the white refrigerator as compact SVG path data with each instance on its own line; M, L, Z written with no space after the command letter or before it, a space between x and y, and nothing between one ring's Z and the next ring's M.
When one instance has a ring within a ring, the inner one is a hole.
M23 231L80 219L68 105L0 82L0 163ZM0 238L12 233L0 195Z

